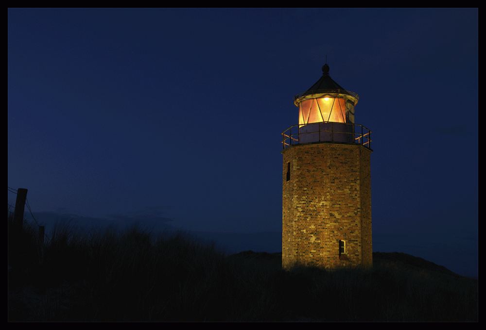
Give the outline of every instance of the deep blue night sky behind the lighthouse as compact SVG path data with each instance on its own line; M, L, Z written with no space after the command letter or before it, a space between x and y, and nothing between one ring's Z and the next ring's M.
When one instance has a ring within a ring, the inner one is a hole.
M280 132L326 54L374 134L374 250L477 275L478 9L9 10L8 185L279 232Z

